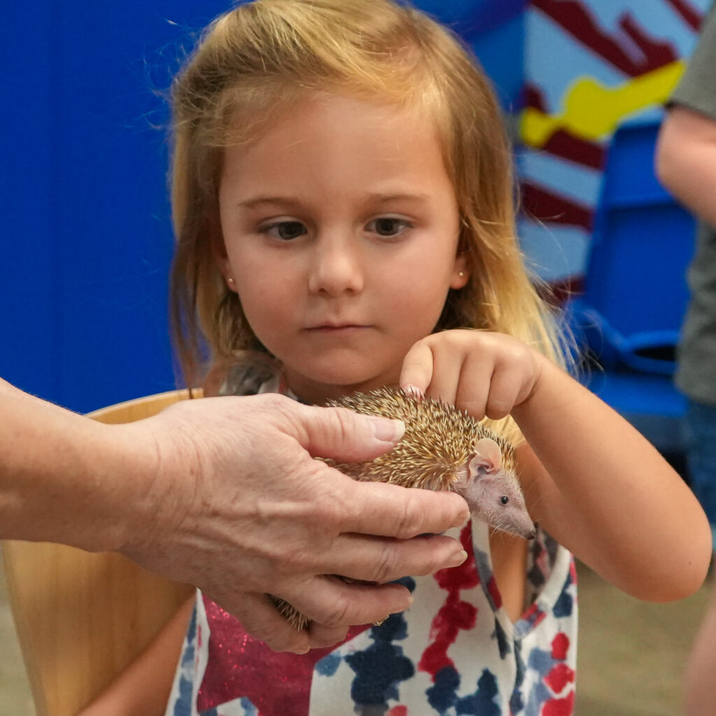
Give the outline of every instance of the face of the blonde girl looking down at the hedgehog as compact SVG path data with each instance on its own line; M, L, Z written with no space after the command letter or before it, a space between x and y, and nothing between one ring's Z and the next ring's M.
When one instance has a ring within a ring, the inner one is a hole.
M226 150L221 270L299 397L395 384L468 281L432 124L332 96Z

